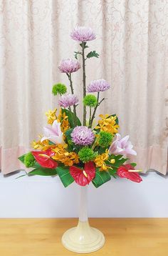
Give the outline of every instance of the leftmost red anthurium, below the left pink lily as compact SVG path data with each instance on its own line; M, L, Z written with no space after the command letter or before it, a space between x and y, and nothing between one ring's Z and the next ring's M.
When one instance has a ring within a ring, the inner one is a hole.
M42 167L46 168L56 168L58 167L58 163L51 159L51 157L55 154L54 152L51 151L51 149L47 149L46 151L32 151L31 152L38 162Z

